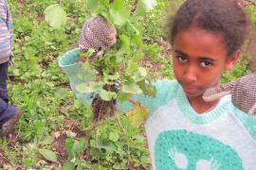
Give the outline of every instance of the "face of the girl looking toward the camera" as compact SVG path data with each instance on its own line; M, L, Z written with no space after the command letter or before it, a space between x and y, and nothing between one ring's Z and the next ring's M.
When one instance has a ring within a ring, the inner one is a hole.
M188 97L197 97L219 84L225 69L238 59L236 52L228 59L227 48L220 35L192 27L174 38L174 76Z

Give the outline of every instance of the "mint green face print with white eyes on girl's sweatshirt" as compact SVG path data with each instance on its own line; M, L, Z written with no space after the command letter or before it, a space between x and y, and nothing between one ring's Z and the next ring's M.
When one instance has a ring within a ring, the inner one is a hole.
M238 154L229 145L186 130L165 131L155 142L155 168L244 169Z

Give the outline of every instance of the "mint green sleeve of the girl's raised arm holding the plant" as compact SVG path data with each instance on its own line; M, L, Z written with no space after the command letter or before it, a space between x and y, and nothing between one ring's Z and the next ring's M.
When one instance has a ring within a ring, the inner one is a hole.
M86 79L86 73L82 70L82 63L79 60L79 50L73 49L64 54L60 59L59 65L68 76L70 87L76 96L86 104L91 104L93 93L79 93L76 90L78 84L88 82ZM78 75L83 75L83 78ZM177 88L177 82L175 80L156 80L154 82L156 88L155 97L146 96L144 94L135 94L132 96L134 102L140 102L144 107L148 108L153 113L157 108L167 104L172 98ZM133 105L130 102L118 103L118 109L121 111L127 111L133 109Z

